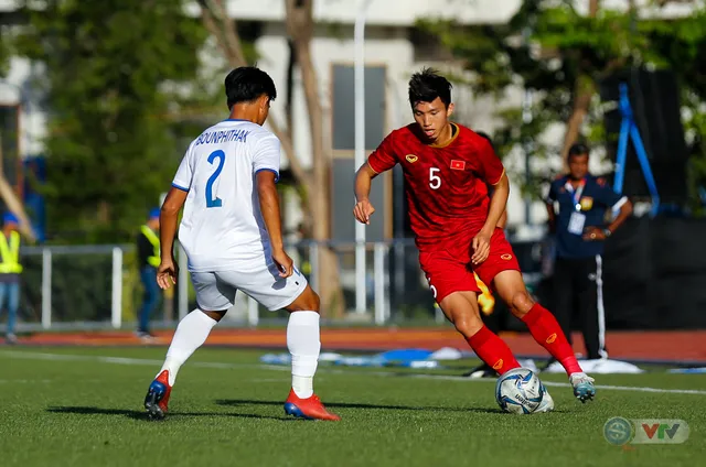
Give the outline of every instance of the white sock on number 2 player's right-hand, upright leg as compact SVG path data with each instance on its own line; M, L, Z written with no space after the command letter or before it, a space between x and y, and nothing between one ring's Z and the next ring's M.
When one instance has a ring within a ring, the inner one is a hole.
M291 354L291 387L298 398L310 398L321 351L317 312L292 312L289 315L287 348Z

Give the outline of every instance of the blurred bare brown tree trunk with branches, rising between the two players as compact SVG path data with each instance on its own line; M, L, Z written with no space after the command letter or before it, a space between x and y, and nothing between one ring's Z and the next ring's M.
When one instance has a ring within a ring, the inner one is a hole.
M199 0L204 25L216 39L223 56L232 66L248 64L247 54L243 52L243 43L237 30L237 20L228 18L224 0ZM331 153L323 143L323 112L319 93L319 78L311 57L311 40L313 37L313 0L285 0L286 26L289 34L290 65L287 78L287 126L270 113L267 124L279 138L282 150L287 154L292 175L297 183L304 211L307 231L322 242L330 238L331 196L329 173L331 171ZM309 115L309 131L313 170L308 171L300 161L292 140L291 95L292 74L298 67L303 83L304 99ZM322 298L322 315L341 316L344 311L343 292L339 276L339 263L335 252L321 245L319 248L318 291Z

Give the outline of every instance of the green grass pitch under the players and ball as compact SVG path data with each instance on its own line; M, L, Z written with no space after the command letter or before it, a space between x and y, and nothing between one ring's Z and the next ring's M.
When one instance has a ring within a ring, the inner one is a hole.
M459 368L321 366L317 392L343 417L327 423L285 416L289 369L260 365L260 354L199 350L179 374L168 420L148 422L141 402L163 348L0 348L0 466L694 466L706 458L706 376L601 376L598 399L586 405L568 387L549 385L556 412L521 416L500 412L493 381L451 377ZM602 427L617 415L683 419L691 437L613 446Z

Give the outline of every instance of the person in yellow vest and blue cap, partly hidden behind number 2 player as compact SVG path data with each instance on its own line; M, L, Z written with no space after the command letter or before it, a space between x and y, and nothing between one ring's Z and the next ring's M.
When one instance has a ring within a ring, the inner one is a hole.
M159 208L150 210L147 222L140 227L137 235L137 259L140 268L140 281L145 293L142 304L138 312L137 336L143 340L150 340L150 316L159 304L160 289L157 284L157 268L160 262L159 254Z

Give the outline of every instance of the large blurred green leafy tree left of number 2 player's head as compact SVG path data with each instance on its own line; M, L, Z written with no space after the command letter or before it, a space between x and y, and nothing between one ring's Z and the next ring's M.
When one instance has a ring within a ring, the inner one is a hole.
M47 230L128 240L182 155L171 121L206 33L181 0L32 0L18 52L43 62ZM188 89L188 88L186 88Z

